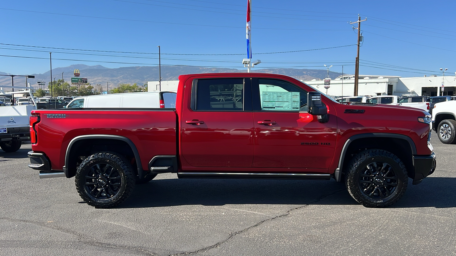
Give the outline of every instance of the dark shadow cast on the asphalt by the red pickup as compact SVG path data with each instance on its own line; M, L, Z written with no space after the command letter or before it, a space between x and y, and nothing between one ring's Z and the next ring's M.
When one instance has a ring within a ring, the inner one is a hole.
M456 207L456 178L428 177L391 207ZM176 205L358 205L343 183L315 180L157 179L138 184L119 208Z

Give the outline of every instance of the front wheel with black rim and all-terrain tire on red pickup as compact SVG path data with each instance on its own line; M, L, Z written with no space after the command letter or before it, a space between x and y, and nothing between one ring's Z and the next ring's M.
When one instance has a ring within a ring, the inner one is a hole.
M404 195L407 184L404 163L386 150L364 150L353 156L345 170L348 192L366 207L394 204Z

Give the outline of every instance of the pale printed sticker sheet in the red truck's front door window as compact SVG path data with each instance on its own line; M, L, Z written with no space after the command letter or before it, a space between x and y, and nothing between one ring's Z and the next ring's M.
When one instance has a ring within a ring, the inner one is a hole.
M262 110L299 111L299 92L263 92Z

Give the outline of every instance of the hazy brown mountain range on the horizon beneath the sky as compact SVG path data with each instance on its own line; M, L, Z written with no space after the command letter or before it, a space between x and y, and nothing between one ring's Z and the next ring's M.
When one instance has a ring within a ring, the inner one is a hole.
M81 78L87 78L88 82L92 85L101 84L103 87L109 83L109 88L117 87L120 83L143 85L148 81L158 81L159 67L119 67L119 68L107 68L100 65L88 66L83 64L71 65L68 67L57 67L52 69L52 80L63 79L65 81L71 81L71 77L74 77L73 73L75 69L79 69ZM239 70L235 68L212 68L212 67L191 67L191 66L161 66L161 77L162 81L177 80L182 74L197 74L197 73L219 73L219 72L246 72L245 69ZM257 69L254 68L253 72L261 73L274 73L281 74L296 79L312 80L312 79L324 79L326 77L326 70L323 69L295 69L295 68L272 68L272 69ZM0 74L7 74L0 72ZM15 74L16 75L16 74ZM51 72L45 72L43 74L28 74L34 75L35 78L29 78L27 82L34 88L38 88L38 80L44 80L46 83L49 82ZM332 79L340 76L341 73L329 72L329 77ZM14 77L14 84L16 86L24 86L26 82L25 77ZM1 85L11 85L11 77L0 76L0 87Z

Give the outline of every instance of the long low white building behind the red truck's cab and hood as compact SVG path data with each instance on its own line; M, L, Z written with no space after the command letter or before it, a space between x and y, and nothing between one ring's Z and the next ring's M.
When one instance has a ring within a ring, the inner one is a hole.
M397 95L415 94L419 96L456 96L456 76L432 77L394 77L367 76L358 77L358 95ZM326 93L325 81L313 79L306 84ZM442 87L443 83L443 87ZM177 91L179 81L147 82L149 92ZM332 96L353 96L355 77L342 75L332 79L327 94ZM161 87L161 88L160 88Z

